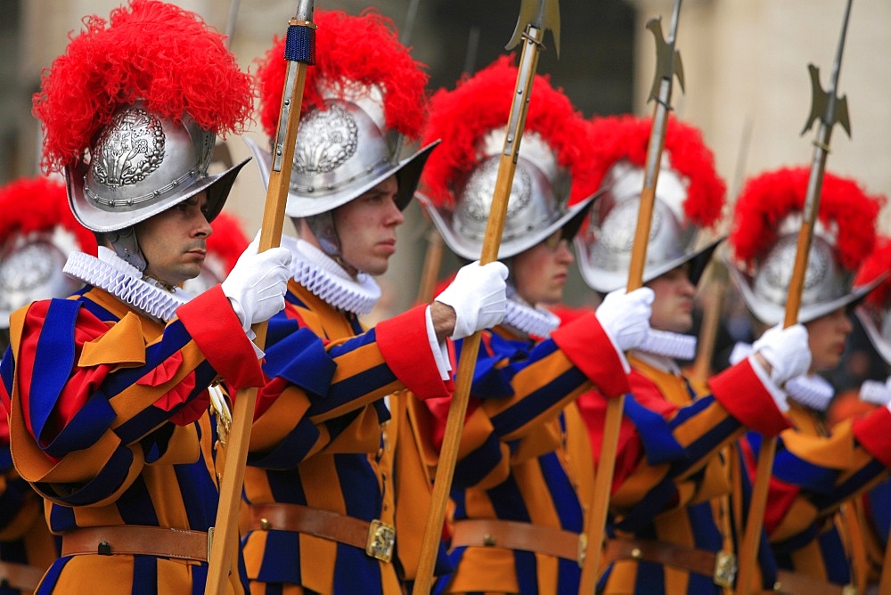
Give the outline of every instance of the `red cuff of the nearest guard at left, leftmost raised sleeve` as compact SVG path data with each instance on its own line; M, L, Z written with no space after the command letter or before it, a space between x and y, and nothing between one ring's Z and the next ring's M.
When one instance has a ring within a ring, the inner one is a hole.
M263 386L263 372L253 344L219 285L176 308L176 315L230 387L237 390Z

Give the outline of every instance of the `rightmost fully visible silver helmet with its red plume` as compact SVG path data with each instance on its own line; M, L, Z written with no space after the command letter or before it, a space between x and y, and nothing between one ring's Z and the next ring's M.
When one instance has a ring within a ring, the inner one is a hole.
M757 175L737 200L730 235L731 277L749 311L769 326L785 316L798 230L807 193L807 167ZM850 178L825 172L798 322L810 322L862 299L874 284L852 289L854 271L876 242L885 200Z

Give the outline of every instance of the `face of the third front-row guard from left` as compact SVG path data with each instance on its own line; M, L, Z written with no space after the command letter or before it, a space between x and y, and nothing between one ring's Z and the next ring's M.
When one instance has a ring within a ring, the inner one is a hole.
M561 231L513 257L512 273L519 297L532 305L557 304L563 298L563 288L569 265L575 257L569 251Z

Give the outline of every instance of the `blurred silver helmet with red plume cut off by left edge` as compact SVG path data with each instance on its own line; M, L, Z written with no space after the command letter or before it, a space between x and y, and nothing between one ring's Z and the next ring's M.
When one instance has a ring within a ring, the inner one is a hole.
M61 272L73 250L95 256L93 232L75 220L65 185L21 178L0 188L0 329L37 299L67 297L80 283Z

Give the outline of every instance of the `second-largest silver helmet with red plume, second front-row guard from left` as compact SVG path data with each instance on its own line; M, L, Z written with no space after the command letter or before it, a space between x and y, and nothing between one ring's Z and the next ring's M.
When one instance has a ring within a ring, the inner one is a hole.
M396 204L411 200L430 144L400 159L403 138L416 141L426 118L427 74L400 44L391 20L378 12L360 16L316 11L315 65L307 70L290 189L290 217L311 217L368 192L391 175ZM278 126L284 83L285 40L276 38L257 69L260 122L269 138ZM268 151L245 138L269 180ZM318 236L321 225L310 225ZM319 238L336 253L336 238ZM326 241L327 240L327 241Z

